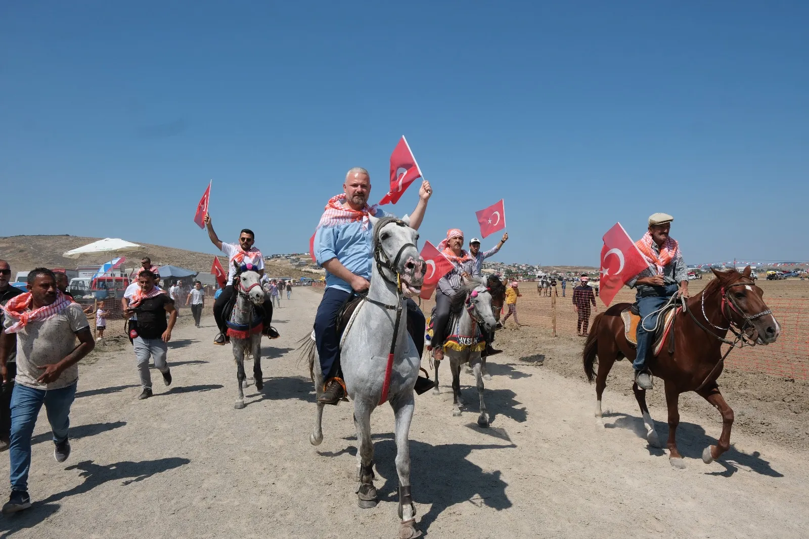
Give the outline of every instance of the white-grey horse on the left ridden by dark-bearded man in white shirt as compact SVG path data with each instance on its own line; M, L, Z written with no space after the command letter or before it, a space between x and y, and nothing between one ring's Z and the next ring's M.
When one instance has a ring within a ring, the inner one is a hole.
M227 323L227 335L231 338L233 358L236 360L236 381L239 383L239 398L233 406L236 410L244 408L244 391L248 387L247 376L244 374L244 356L252 355L253 380L256 380L256 389L264 387L261 372L261 329L262 324L256 325L254 312L262 312L265 301L265 292L261 287L260 275L252 270L236 268L236 283L233 286L237 294L230 320ZM269 324L269 320L264 320Z

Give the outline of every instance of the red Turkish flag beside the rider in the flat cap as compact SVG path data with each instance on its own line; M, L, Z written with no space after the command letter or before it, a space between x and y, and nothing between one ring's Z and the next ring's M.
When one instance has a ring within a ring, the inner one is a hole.
M603 240L599 298L604 305L609 306L621 287L648 268L649 263L635 247L635 242L624 227L621 227L621 223L615 223L615 226L604 234Z

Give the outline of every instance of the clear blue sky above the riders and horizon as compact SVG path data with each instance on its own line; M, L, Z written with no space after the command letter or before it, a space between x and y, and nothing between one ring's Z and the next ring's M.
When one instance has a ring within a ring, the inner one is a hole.
M213 178L223 240L302 252L346 170L383 197L405 134L434 243L502 197L502 261L597 265L655 211L688 263L807 260L807 26L806 2L3 2L0 235L213 253Z

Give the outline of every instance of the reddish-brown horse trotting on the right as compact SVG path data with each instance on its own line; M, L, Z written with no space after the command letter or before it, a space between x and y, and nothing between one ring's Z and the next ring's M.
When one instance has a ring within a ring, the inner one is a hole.
M714 274L716 278L700 294L686 300L685 308L675 316L674 328L662 350L656 358L646 362L652 374L664 382L668 408L667 447L671 465L677 468L684 468L675 438L680 422L677 410L680 393L696 392L722 414L722 435L718 444L702 452L702 460L709 464L731 446L733 410L719 393L716 383L727 355L722 355L722 344L766 345L775 342L781 331L764 302L764 291L750 278L750 266L743 273L731 269L714 270ZM612 364L621 358L629 361L635 358L635 349L626 341L621 319L621 311L628 307L629 303L617 303L596 316L584 345L584 371L587 380L592 382L595 378L596 418L601 418L601 395ZM729 331L735 335L735 341L726 339ZM728 352L730 350L733 349ZM597 376L593 367L596 355L599 359ZM632 389L643 414L646 439L650 445L660 447L646 407L646 390L638 388L637 384L633 384Z

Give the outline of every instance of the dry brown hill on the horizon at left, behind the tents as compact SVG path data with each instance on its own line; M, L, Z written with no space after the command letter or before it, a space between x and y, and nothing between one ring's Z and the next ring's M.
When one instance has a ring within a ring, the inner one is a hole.
M102 238L87 238L83 236L5 236L0 237L0 259L7 261L11 265L12 278L18 271L34 269L37 266L46 268L66 268L73 269L77 265L101 265L108 261L113 255L92 255L80 257L78 259L65 258L61 253L66 253L70 249L91 244ZM141 250L125 253L127 268L140 264L142 257L150 257L156 265L176 265L180 268L192 269L193 271L210 272L210 265L214 261L214 255L209 253L197 253L196 251L186 251L163 245L144 244L134 241L143 246ZM225 257L220 253L219 260L226 264ZM131 264L130 264L131 262ZM298 269L292 269L286 264L267 264L269 275L283 277L311 277Z

